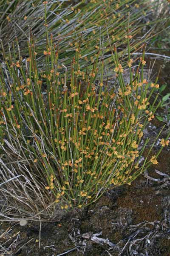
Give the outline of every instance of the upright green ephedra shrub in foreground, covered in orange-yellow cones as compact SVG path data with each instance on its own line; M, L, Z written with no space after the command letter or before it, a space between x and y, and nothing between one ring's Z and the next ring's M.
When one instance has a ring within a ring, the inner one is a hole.
M148 157L152 145L141 163L149 139L141 140L156 111L157 97L150 108L149 101L159 87L158 78L153 83L144 79L144 52L132 70L130 38L128 34L128 84L116 47L111 46L113 87L104 77L100 50L94 54L93 69L84 72L79 69L78 44L67 70L58 65L52 35L42 51L43 69L37 68L32 39L26 61L20 52L9 59L4 53L0 69L0 191L8 204L4 218L49 218L55 209L84 208L108 189L130 185L157 164L169 141L161 140L157 154Z

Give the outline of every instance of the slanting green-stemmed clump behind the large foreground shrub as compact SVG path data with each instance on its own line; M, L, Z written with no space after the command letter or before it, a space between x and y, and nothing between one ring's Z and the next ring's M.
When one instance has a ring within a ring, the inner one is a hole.
M95 48L103 45L105 47L104 58L108 60L108 68L112 65L112 58L110 58L105 20L108 24L112 44L116 43L116 46L121 48L120 54L123 54L126 45L127 13L130 13L130 29L133 36L130 45L132 51L138 51L142 42L149 40L155 31L158 33L159 28L162 28L163 24L167 22L167 18L158 19L154 14L154 10L159 9L157 0L154 0L152 4L148 0L144 0L140 4L136 0L81 0L77 4L72 2L52 0L9 2L1 0L0 39L3 41L6 55L8 47L13 52L17 37L21 54L28 57L29 26L37 44L37 62L42 65L41 52L45 49L45 32L48 26L48 32L53 34L54 42L59 44L60 63L64 62L65 66L71 64L74 50L77 49L77 38L83 34L82 51L79 57L82 67L94 61ZM161 3L163 2L166 0L161 1ZM44 20L44 7L47 22ZM151 20L147 18L150 12L153 13ZM159 23L159 28L155 30L157 23ZM138 37L146 28L149 32L143 37Z

